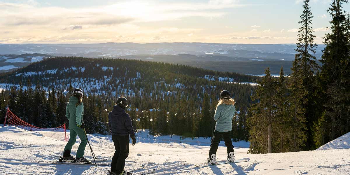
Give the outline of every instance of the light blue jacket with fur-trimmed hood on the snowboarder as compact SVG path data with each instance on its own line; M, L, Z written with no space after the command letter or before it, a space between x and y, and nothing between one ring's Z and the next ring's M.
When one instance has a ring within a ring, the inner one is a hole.
M236 113L235 100L220 100L219 104L214 115L215 130L219 132L232 131L232 119Z

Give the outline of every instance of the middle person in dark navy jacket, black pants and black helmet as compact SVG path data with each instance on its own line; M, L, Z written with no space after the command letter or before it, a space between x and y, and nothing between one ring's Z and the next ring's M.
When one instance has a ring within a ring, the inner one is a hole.
M119 97L113 110L108 114L108 124L112 133L114 147L116 148L109 175L130 174L124 171L125 159L129 155L129 137L132 139L133 146L136 144L136 138L130 116L125 112L127 106L127 99Z

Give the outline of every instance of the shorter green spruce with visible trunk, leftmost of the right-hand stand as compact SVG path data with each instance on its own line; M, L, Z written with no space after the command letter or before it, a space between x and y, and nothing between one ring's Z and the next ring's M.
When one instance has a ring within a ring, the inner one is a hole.
M270 69L265 70L265 77L258 86L256 93L251 97L258 103L252 104L252 117L248 118L250 128L251 153L272 153L272 132L275 119L276 81L271 77Z

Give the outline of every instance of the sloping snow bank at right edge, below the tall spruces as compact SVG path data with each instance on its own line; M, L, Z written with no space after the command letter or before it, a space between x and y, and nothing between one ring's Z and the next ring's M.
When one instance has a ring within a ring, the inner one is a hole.
M324 144L317 150L325 149L349 149L350 148L350 132L342 135L341 137L334 139L327 144Z

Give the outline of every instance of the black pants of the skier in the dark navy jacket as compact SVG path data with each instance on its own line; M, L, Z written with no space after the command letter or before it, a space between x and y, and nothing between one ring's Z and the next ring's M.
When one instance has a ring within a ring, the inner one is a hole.
M123 172L125 167L125 159L129 156L129 136L120 136L112 135L112 140L116 152L114 152L112 163L111 163L111 172L120 174Z

